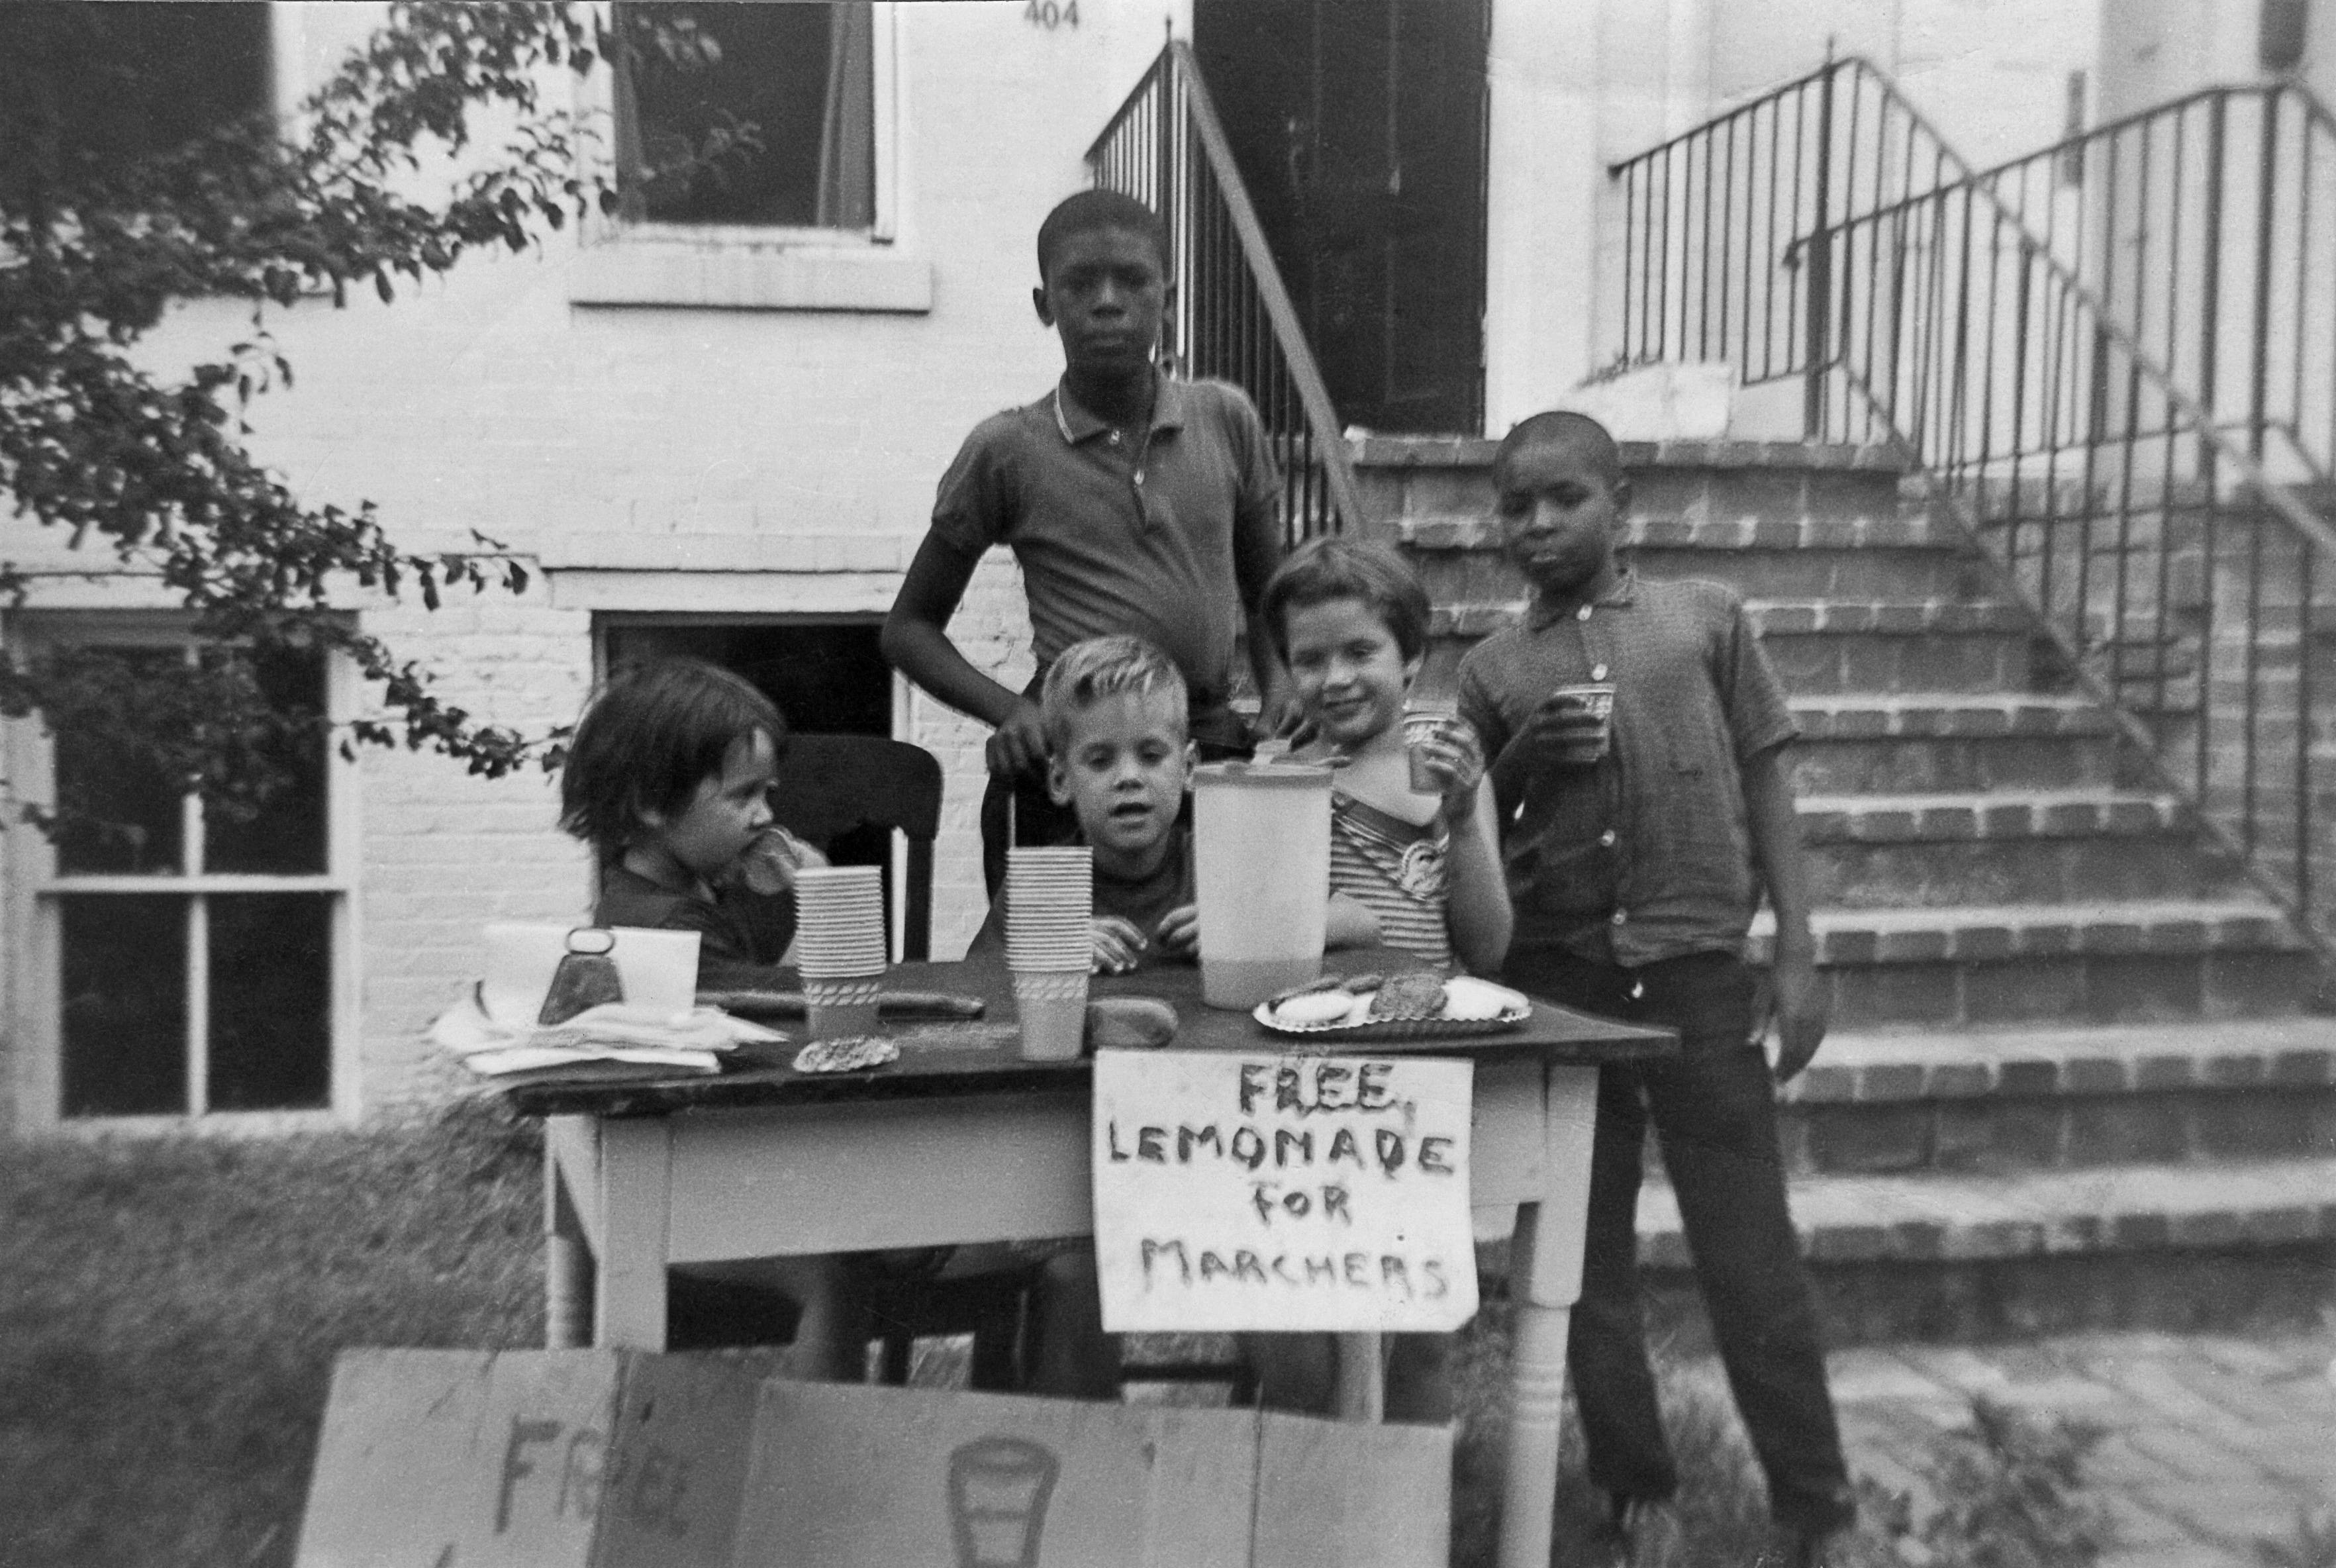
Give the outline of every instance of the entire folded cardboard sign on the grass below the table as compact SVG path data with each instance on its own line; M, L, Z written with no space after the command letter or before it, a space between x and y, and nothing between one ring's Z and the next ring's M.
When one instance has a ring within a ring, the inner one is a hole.
M299 1568L1441 1568L1451 1428L343 1351Z

